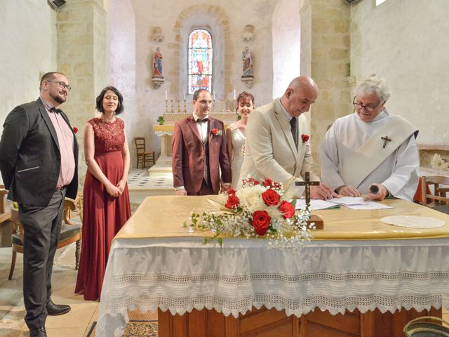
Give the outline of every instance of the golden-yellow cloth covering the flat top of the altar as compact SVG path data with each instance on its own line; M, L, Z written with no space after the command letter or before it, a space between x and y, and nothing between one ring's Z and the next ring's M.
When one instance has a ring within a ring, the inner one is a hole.
M366 240L366 239L426 239L449 237L449 217L427 207L402 199L387 199L382 204L393 209L356 211L341 207L315 211L324 220L324 230L314 231L316 240ZM189 221L192 210L212 212L224 209L216 196L147 197L135 214L128 220L116 239L155 237L205 237L210 232L189 232L183 227ZM401 228L380 221L385 216L425 216L445 221L438 229ZM149 226L151 224L151 226ZM150 230L151 229L151 230ZM246 239L243 239L246 240Z

